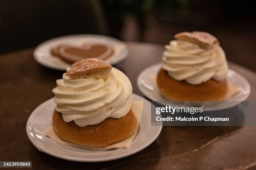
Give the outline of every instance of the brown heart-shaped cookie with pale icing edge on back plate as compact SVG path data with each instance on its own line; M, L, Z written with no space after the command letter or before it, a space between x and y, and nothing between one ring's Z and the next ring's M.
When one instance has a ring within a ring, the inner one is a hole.
M98 58L106 60L113 54L113 47L105 44L85 43L81 46L59 45L53 48L52 53L59 56L62 60L74 63L86 58Z

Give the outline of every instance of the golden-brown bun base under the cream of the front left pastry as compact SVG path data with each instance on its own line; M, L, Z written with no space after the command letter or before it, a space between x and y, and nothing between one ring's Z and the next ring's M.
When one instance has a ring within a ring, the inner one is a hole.
M72 122L64 122L62 114L54 110L52 125L56 134L69 142L79 145L103 147L128 138L137 128L137 119L130 110L119 119L106 118L96 125L79 127Z

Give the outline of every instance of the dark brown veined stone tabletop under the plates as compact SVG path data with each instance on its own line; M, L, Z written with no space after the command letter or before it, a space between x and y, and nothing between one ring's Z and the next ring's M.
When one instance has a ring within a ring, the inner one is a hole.
M133 92L144 68L161 61L164 47L128 42L129 55L115 65L131 80ZM248 100L256 100L256 73L229 63L251 84ZM102 163L61 160L38 151L26 134L31 112L53 97L51 90L63 72L39 65L33 49L0 56L0 161L32 161L33 169L256 169L256 127L164 126L159 137L144 150ZM1 169L1 168L0 168Z

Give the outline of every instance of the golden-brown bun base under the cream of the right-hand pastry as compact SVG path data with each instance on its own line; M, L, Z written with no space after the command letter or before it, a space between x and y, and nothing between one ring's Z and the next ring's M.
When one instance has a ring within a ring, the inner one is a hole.
M157 85L163 97L174 101L220 101L228 91L226 79L210 79L200 85L191 85L185 80L173 79L163 69L158 72Z

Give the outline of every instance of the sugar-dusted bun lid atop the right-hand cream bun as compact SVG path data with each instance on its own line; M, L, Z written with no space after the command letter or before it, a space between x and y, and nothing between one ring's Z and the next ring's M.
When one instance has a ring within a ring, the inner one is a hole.
M177 40L187 41L199 45L200 47L208 47L212 44L219 44L219 41L213 35L207 32L180 32L174 35Z

